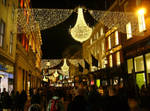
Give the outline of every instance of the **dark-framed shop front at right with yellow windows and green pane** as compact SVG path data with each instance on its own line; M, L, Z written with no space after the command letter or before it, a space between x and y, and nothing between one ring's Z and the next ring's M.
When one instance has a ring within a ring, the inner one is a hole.
M138 85L150 84L150 40L141 41L126 50L128 82Z

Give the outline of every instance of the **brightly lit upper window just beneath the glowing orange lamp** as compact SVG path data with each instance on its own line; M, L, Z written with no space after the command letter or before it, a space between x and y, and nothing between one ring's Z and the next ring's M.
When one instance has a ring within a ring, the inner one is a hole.
M146 30L146 25L145 25L144 14L139 14L138 15L138 23L139 23L139 32L145 31Z

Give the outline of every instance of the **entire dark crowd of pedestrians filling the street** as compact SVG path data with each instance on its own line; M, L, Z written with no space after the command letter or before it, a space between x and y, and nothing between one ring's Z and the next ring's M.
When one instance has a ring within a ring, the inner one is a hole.
M150 85L141 89L115 86L43 87L30 89L28 111L150 111ZM26 111L26 91L0 93L0 111Z

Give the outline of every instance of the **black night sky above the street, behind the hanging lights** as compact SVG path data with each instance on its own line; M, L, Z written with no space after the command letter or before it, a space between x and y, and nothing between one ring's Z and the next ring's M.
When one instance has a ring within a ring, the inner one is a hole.
M51 2L50 2L51 1ZM58 9L74 9L77 6L85 6L87 9L103 9L103 0L31 0L32 8L58 8ZM60 59L62 53L71 47L77 51L82 44L75 41L69 34L69 27L73 27L76 22L76 13L73 13L63 23L41 31L42 36L42 53L43 59ZM84 13L86 23L91 27L96 21L88 12Z

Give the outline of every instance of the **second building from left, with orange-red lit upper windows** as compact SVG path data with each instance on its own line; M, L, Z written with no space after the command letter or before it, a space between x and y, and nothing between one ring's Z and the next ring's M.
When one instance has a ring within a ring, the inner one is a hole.
M30 0L21 0L19 8L31 8ZM27 18L31 17L24 15ZM28 24L28 19L26 21ZM28 91L30 88L39 88L41 83L41 33L38 24L35 24L37 31L17 34L17 50L15 61L15 90L21 92L23 89ZM30 29L28 29L30 30Z

